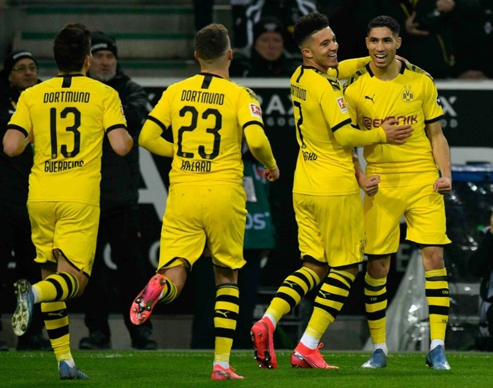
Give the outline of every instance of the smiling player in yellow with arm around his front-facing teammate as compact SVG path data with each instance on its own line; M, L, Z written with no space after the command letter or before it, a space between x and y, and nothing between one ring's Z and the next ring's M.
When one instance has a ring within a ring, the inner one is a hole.
M410 125L391 125L395 119L387 120L373 132L353 129L342 87L327 74L329 67L337 67L338 49L327 17L319 13L302 17L293 36L303 55L303 65L291 77L300 146L293 204L303 264L284 280L262 319L253 325L251 337L258 364L276 368L276 324L323 281L314 313L291 356L291 364L299 368L337 368L327 364L318 349L322 334L341 310L363 260L363 209L352 147L386 142L404 144L412 129ZM377 177L359 178L364 190L373 190L378 183Z

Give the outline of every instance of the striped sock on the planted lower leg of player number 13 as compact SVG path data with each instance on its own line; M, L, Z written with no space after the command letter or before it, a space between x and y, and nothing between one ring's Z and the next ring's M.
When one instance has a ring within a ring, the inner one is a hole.
M43 302L41 303L41 314L57 361L70 360L72 355L70 354L69 316L65 302Z

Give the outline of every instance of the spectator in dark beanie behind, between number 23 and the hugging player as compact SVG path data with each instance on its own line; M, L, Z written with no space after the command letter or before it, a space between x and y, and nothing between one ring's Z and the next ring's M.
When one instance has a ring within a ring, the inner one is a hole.
M284 53L285 29L276 17L263 17L253 26L250 56L235 54L231 77L289 77L297 64Z

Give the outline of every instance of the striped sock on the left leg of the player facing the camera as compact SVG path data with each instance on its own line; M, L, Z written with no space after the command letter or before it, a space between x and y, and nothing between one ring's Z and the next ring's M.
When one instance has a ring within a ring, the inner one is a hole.
M365 309L371 340L374 344L386 342L387 317L387 277L373 279L368 272L365 275Z

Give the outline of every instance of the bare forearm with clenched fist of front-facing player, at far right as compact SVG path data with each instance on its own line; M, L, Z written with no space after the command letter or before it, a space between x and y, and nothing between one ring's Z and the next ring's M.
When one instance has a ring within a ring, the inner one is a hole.
M452 168L450 162L449 143L445 138L440 121L426 124L426 134L431 143L433 158L440 169L440 178L433 185L433 191L439 194L450 194L452 191Z

